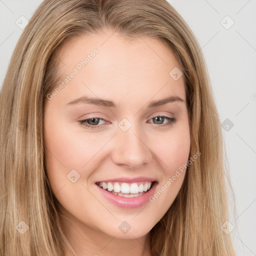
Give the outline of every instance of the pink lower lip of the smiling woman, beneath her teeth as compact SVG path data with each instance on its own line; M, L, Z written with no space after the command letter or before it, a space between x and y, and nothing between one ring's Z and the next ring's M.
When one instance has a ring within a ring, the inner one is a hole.
M155 187L157 182L154 182L152 187L146 191L145 193L136 196L136 197L123 197L111 192L106 191L105 189L101 188L100 186L96 185L102 195L108 199L111 203L122 207L122 208L136 208L144 205L146 202L149 201L149 197L154 193Z

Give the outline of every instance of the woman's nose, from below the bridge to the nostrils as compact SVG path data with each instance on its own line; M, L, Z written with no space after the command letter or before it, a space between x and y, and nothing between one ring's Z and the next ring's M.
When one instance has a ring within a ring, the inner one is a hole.
M141 127L133 124L126 131L118 130L112 151L114 163L127 166L130 169L138 169L141 165L150 162L152 153L147 145L148 141L142 133Z

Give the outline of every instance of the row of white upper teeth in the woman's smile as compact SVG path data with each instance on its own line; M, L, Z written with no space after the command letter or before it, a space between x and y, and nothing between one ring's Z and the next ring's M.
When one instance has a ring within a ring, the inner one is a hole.
M144 185L143 185L144 183ZM108 190L109 192L113 193L122 193L122 194L138 194L142 192L146 192L149 190L152 182L150 181L144 181L144 182L137 182L137 183L131 183L128 184L126 182L119 183L119 182L99 182L98 185L102 187L103 189ZM124 196L127 197L127 196ZM130 197L130 196L128 196Z

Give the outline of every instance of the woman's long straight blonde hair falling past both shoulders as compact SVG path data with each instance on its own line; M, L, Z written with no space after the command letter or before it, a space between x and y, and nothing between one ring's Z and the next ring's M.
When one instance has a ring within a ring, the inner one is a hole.
M0 92L0 255L59 256L63 243L71 248L45 171L44 104L59 78L58 47L105 28L159 38L173 51L186 87L190 156L201 153L150 230L151 255L233 256L230 235L221 230L228 220L224 147L206 65L193 33L165 0L44 0L31 17Z

